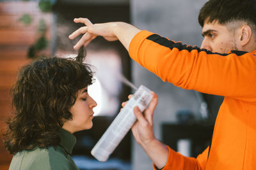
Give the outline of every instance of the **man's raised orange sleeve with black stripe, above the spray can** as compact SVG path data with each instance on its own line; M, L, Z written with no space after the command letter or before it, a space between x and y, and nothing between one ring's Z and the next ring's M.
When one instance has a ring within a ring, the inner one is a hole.
M253 53L212 53L141 31L132 39L129 55L163 81L183 89L256 101Z

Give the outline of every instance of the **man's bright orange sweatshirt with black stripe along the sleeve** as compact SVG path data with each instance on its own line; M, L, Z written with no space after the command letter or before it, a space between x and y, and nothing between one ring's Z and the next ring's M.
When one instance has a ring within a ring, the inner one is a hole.
M225 96L216 118L209 159L209 147L196 159L168 148L164 170L256 169L256 50L212 53L141 31L132 39L129 54L163 81Z

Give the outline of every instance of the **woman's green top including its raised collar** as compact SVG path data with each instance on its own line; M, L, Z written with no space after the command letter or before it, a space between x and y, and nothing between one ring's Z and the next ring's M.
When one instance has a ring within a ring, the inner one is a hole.
M15 153L9 170L65 170L78 169L70 154L76 144L76 137L70 132L60 128L61 143L58 146L39 148L33 150L22 150Z

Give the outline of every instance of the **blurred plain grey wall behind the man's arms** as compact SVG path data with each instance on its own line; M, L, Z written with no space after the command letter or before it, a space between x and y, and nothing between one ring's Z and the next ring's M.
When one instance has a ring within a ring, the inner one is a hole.
M140 29L147 29L188 45L200 46L202 36L197 17L205 2L206 0L131 0L131 21ZM161 140L163 122L177 122L175 113L178 110L189 109L195 113L197 120L200 119L200 105L193 90L184 90L165 83L135 62L132 63L132 80L136 87L145 85L159 96L154 113L154 132L157 139ZM152 162L134 139L132 169L152 169Z

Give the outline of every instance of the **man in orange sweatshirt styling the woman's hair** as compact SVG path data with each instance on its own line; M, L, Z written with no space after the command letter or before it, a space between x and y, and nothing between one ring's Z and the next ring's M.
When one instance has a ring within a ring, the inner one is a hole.
M184 157L154 137L152 115L157 96L145 116L138 108L132 127L136 141L155 169L256 169L256 1L210 0L200 10L204 41L187 46L126 24L92 24L87 18L69 38L88 45L96 36L119 40L132 59L163 81L184 89L225 96L214 126L211 147L198 157Z

